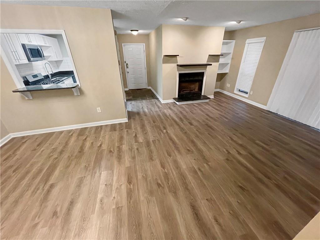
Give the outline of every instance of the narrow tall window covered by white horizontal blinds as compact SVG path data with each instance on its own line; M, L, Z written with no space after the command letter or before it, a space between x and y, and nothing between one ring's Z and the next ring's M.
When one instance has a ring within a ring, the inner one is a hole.
M244 97L249 96L254 74L256 72L262 48L266 38L252 38L245 42L235 93Z

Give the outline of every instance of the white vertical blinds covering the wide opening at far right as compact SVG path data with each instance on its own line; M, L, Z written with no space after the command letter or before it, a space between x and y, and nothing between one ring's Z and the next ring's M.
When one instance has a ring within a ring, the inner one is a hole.
M296 31L267 109L320 129L320 28Z

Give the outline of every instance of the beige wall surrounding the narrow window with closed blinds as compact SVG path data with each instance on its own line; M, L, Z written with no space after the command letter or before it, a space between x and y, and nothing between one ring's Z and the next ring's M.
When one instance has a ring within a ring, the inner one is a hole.
M219 88L234 93L245 41L248 38L267 37L251 87L253 94L248 97L249 100L267 105L294 31L319 26L320 14L313 14L229 32L229 40L236 40L236 43L230 71L218 84ZM227 87L228 83L230 87Z

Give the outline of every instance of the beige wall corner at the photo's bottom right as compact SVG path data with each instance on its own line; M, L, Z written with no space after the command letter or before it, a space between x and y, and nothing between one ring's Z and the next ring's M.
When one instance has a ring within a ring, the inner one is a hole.
M320 212L293 238L293 240L320 239Z

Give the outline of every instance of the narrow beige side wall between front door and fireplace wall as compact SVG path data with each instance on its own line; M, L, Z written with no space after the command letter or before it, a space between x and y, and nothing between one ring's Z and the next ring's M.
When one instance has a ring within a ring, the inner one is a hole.
M150 79L148 86L163 98L162 82L162 25L149 34Z

